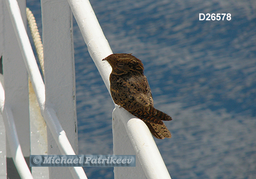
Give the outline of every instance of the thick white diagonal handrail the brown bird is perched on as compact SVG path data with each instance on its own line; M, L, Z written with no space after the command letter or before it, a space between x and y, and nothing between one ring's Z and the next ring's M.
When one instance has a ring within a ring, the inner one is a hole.
M100 28L92 6L89 0L68 0L68 2L76 18L83 39L87 44L88 51L110 92L109 76L111 67L107 63L102 62L102 59L112 54L112 50ZM117 113L117 118L122 120L126 131L129 134L145 175L148 178L170 178L161 154L145 123L141 120L133 119L136 117L124 109L119 109L118 106L115 107L113 114L115 114L115 111ZM123 131L119 132L120 135L122 135L121 133L123 133ZM144 146L145 141L147 143L146 148Z

